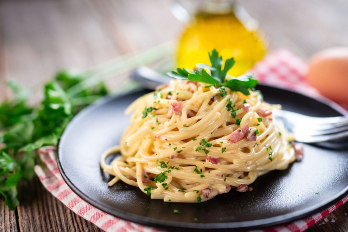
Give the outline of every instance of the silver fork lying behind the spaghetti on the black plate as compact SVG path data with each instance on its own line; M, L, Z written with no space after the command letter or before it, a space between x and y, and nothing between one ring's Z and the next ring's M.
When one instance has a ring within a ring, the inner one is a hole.
M166 84L171 78L141 66L131 75L135 81L148 89ZM348 137L348 115L331 118L309 117L285 110L273 110L274 115L282 120L285 127L294 134L295 140L302 143L321 143Z

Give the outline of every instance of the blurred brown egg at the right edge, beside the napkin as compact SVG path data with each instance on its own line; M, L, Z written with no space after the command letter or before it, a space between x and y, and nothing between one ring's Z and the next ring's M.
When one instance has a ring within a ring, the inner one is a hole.
M348 103L348 47L330 48L312 56L307 81L323 96Z

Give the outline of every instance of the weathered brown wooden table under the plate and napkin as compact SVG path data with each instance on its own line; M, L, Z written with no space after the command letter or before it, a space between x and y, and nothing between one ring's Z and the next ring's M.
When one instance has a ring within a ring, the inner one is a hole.
M242 1L241 1L242 2ZM177 38L182 25L169 0L0 1L0 99L8 79L37 92L62 67L90 67L121 54ZM270 49L283 47L306 59L330 46L347 45L346 0L244 0L259 19ZM113 83L123 81L126 75ZM55 199L34 178L21 186L21 206L0 203L0 231L100 231ZM308 231L348 231L343 205ZM331 222L335 220L335 223Z

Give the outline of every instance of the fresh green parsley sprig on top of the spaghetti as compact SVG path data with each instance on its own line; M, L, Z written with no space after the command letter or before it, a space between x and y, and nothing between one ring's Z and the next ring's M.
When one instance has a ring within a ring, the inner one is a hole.
M254 79L253 74L251 73L243 74L231 80L225 80L227 72L236 63L233 57L226 60L223 69L222 56L219 56L219 53L215 49L209 53L209 59L211 66L206 64L197 64L197 67L200 69L196 70L195 72L191 72L191 70L184 68L177 68L176 72L168 72L167 75L176 79L188 79L189 81L207 83L215 88L222 86L227 87L232 91L239 91L245 95L249 95L249 89L254 88L258 84L258 80ZM210 70L211 74L209 74L206 69Z

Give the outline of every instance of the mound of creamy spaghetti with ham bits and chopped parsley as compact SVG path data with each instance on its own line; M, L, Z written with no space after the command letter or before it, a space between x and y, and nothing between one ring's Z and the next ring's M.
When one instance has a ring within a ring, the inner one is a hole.
M209 88L207 88L209 87ZM203 202L231 188L251 191L255 179L295 160L291 136L258 91L173 80L138 98L120 145L101 157L104 172L152 199ZM105 158L121 155L109 165Z

